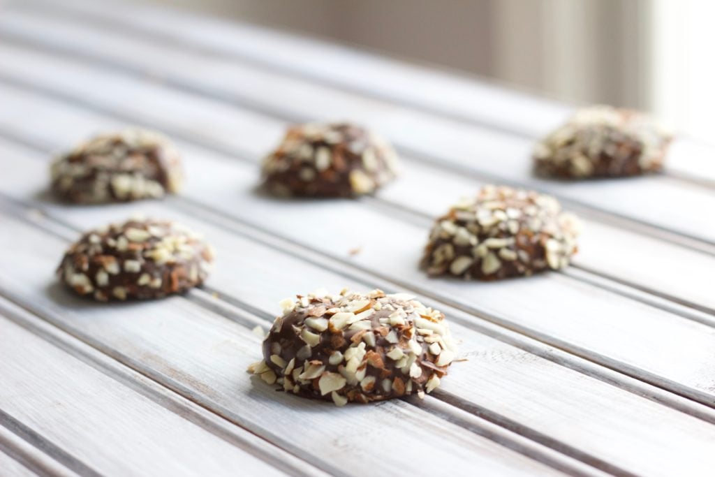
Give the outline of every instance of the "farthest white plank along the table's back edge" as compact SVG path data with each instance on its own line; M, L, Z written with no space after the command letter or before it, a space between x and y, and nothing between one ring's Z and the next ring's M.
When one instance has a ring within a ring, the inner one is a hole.
M59 9L55 6L44 4L35 11L84 18L106 28L140 34L154 43L201 49L204 54L249 62L281 74L511 134L541 137L573 111L571 105L506 89L485 79L440 72L434 67L420 67L261 26L137 4L113 6L111 14L102 3L84 0L64 2ZM676 137L666 171L714 187L712 152L709 144L682 135Z

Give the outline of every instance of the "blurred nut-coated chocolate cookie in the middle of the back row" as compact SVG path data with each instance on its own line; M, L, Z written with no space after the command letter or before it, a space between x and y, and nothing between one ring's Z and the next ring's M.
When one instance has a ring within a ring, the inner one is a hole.
M393 180L397 165L393 148L362 127L308 123L288 129L264 158L262 174L275 195L354 197Z

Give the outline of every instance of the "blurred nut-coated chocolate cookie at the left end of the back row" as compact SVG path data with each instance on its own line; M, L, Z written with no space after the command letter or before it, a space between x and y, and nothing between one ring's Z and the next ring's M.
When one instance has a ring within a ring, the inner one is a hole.
M178 192L177 149L163 134L130 128L102 134L62 154L50 167L51 190L66 202L98 204Z

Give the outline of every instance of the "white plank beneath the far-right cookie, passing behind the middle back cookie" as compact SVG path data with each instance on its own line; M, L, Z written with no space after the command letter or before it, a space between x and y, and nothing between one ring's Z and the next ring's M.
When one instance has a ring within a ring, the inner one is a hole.
M6 31L12 27L2 26L2 29ZM56 21L33 19L21 28L14 27L14 30L13 34L21 34L24 38L31 36L32 42L44 43L53 50L61 49L62 45L69 43L66 48L79 56L96 59L102 64L112 64L113 67L119 64L135 73L159 74L172 86L237 102L267 114L280 115L283 119L334 119L347 114L350 119L384 132L408 159L413 156L413 159L449 165L482 179L547 190L574 205L608 212L617 217L630 217L661 230L677 232L685 238L715 244L715 224L700 220L699 213L691 207L694 203L715 207L715 195L704 188L692 187L669 177L579 183L538 179L531 175L531 141L509 134L431 117L403 107L245 67L236 62L147 44L135 37L112 36L106 30L92 26L64 25L56 24ZM21 56L22 61L17 59L10 62L12 67L4 71L19 69L16 72L19 77L28 82L35 81L31 72L27 71L27 63L32 61L31 58L26 51ZM58 59L49 56L42 59L43 74L47 68L59 67L57 62ZM87 77L87 74L84 72L82 75ZM56 79L56 75L53 75L53 79ZM77 89L79 84L63 84L63 91L71 92L73 86ZM98 98L94 98L96 93L99 93ZM107 97L99 91L83 89L82 94L83 97L92 97L94 101L107 104ZM131 94L124 97L122 106L131 108L132 99ZM152 100L156 99L149 99L150 102ZM148 106L144 104L144 107ZM154 105L152 109L157 107ZM186 124L189 122L196 129L196 123L186 115L173 117L172 122L174 125L183 122L182 127L189 127Z

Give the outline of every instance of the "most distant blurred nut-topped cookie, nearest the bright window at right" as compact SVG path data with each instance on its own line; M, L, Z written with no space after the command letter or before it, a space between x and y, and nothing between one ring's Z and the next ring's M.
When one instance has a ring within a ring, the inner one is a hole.
M643 174L661 169L671 134L654 119L629 109L595 106L536 144L537 174L581 179Z

